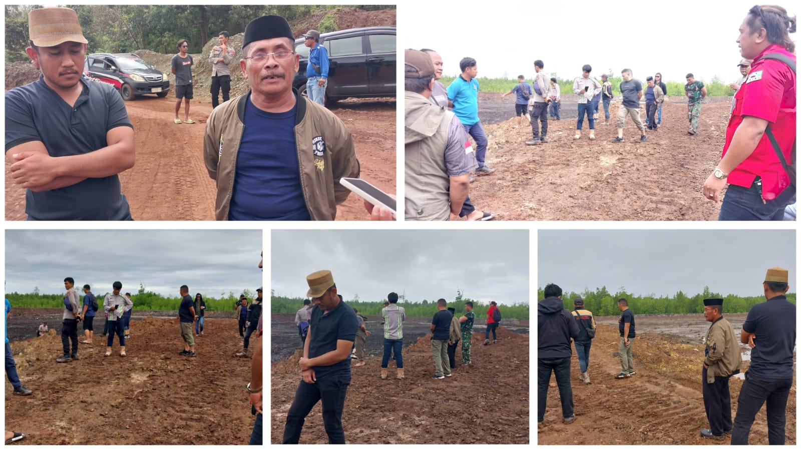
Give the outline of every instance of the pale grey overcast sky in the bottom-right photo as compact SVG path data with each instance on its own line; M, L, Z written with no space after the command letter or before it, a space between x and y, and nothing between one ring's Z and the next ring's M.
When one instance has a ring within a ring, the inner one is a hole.
M537 286L634 295L763 295L770 267L790 271L795 286L795 231L587 230L538 232Z

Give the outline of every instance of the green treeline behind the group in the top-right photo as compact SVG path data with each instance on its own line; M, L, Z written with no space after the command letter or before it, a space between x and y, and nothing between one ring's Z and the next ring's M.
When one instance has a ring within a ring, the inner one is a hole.
M532 78L533 74L532 75L525 74L525 76L526 76L526 80L525 81L528 82L529 84L531 84L533 82L533 80L529 79L529 78ZM551 76L553 76L553 75L551 75ZM551 76L549 76L548 78L551 78ZM593 76L594 76L594 78L598 79L598 82L601 81L601 74L598 74L597 76L596 75L593 75ZM647 84L646 84L646 76L648 76L648 75L647 74L646 75L642 75L642 76L636 75L634 77L634 78L636 78L636 79L638 79L638 80L640 80L642 82L643 96L645 95L645 90L648 87ZM652 74L652 76L653 76L653 74ZM517 75L515 75L515 77L517 77ZM453 81L454 78L456 78L456 77L443 76L440 79L440 81L443 84L445 84L445 86L447 87ZM556 78L556 77L554 77L554 78ZM731 76L731 82L734 82L737 78L739 78L739 75L738 75L737 72L735 72L735 74L733 74ZM698 79L698 78L696 78L696 79ZM509 79L509 78L482 78L482 77L479 77L479 78L477 78L477 80L478 80L479 86L481 87L481 91L483 91L483 92L501 92L501 93L509 92L509 90L511 90L514 87L514 85L517 84L517 78ZM559 93L562 96L562 98L571 98L570 96L574 96L575 97L575 94L573 93L573 80L574 80L574 78L570 78L570 79L557 78L557 83L559 84ZM609 82L612 83L612 94L614 94L616 98L620 98L620 83L622 81L623 81L623 78L620 78L619 76L618 77L610 77L609 78ZM706 94L710 95L712 97L731 97L731 96L733 96L735 94L735 91L731 90L731 87L729 87L729 84L731 84L731 82L723 82L720 79L720 77L718 77L717 75L715 75L712 78L712 81L710 81L710 82L706 82L706 81L701 80L701 79L698 79L698 81L702 81L704 83L704 86L706 87ZM684 97L685 96L685 94L684 94L684 83L683 82L665 82L665 85L667 86L667 96L668 97Z

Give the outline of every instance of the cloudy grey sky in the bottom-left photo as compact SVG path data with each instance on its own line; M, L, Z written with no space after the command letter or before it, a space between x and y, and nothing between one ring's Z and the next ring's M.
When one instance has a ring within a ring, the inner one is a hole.
M95 295L123 283L123 292L219 298L262 286L261 230L6 230L6 291L60 294L64 278Z

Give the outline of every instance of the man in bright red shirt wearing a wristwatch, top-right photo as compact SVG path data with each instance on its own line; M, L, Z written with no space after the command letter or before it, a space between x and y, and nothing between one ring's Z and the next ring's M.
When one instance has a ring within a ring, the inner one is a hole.
M764 58L783 54L795 62L795 17L781 6L754 6L737 42L743 58L753 58L751 72L735 94L734 113L726 129L723 159L703 184L707 199L717 202L726 183L718 220L782 220L795 202L795 180L787 175L766 128L770 126L787 164L795 143L795 70Z

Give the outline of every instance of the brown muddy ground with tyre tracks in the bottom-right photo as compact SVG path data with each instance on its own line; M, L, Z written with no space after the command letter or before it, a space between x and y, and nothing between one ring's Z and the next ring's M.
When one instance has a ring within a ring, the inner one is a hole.
M745 314L725 315L739 333ZM551 377L544 424L538 427L537 444L657 445L729 444L700 436L708 428L701 392L701 369L707 323L702 315L637 316L634 368L629 379L617 380L617 317L598 318L598 333L590 351L590 380L578 380L580 370L574 356L570 380L576 421L562 423L562 408L556 380ZM641 330L642 327L642 331ZM746 352L741 346L741 350ZM743 357L745 372L750 364ZM787 400L786 444L795 445L795 380ZM732 377L731 416L737 412L737 397L743 380ZM767 418L763 407L751 427L750 444L767 445Z

